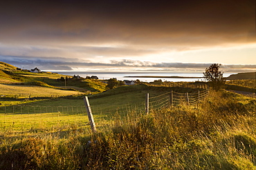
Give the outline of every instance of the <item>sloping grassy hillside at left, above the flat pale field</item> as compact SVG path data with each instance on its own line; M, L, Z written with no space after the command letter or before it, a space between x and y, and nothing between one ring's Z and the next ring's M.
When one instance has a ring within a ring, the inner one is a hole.
M66 81L57 81L57 78L64 77ZM0 83L1 84L25 84L37 85L51 88L58 87L72 87L82 90L83 92L91 91L92 94L97 94L105 91L106 84L101 81L77 78L72 79L73 76L66 76L52 72L33 73L29 71L19 70L13 65L0 62Z

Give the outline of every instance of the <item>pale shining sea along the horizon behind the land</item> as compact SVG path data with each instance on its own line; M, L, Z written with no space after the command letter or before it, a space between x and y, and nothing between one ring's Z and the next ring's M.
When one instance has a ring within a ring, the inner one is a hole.
M86 76L98 76L99 79L108 80L109 78L117 78L118 81L136 81L137 79L143 82L153 82L156 80L161 81L170 81L170 82L177 82L177 81L187 81L187 82L194 82L194 81L205 81L203 77L203 72L57 72L59 74L64 74L68 76L81 76L86 78ZM236 73L224 73L223 77L228 77L231 74ZM127 76L158 76L157 78L142 78L142 77L127 77ZM163 78L161 76L181 76L181 77L196 77L196 78Z

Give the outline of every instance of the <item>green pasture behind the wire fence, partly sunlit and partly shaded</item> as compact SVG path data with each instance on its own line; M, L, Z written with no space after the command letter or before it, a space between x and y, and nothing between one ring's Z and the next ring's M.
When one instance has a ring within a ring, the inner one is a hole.
M147 85L123 86L89 96L89 102L95 123L101 125L102 122L113 120L115 116L126 116L133 111L144 112L147 93L153 97L166 92L170 92L170 89ZM6 128L21 133L31 128L45 131L50 127L89 123L82 96L42 100L19 99L16 100L17 103L7 98L0 100L2 132L6 131Z

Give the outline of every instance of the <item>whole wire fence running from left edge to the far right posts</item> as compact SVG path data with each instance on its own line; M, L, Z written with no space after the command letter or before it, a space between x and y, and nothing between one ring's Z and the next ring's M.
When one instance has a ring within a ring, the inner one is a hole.
M98 123L104 120L112 120L115 116L126 116L127 114L149 113L152 110L172 107L179 104L195 105L208 96L208 90L194 93L167 92L158 96L149 96L146 101L136 104L111 105L108 107L90 106L93 116ZM10 105L0 107L0 132L30 131L32 127L42 129L46 127L62 128L68 125L89 125L86 116L86 107L79 106L27 106ZM48 131L48 130L47 130Z

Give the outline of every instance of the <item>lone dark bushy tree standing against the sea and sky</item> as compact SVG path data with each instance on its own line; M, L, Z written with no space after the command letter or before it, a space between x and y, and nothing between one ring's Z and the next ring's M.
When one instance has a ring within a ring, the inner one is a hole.
M225 80L223 79L223 72L219 71L221 64L212 64L210 67L205 69L203 73L203 77L206 81L209 82L210 86L215 89L219 90L223 85L225 85Z

